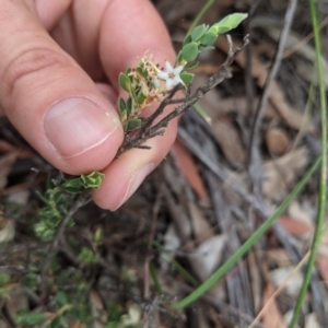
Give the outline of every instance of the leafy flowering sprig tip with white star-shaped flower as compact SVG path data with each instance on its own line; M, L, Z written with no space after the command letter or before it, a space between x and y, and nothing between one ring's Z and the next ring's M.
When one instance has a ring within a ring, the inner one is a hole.
M118 102L120 120L125 132L142 126L141 112L154 102L161 102L165 94L177 84L188 85L194 74L187 70L196 67L198 54L212 49L219 34L235 28L247 14L235 13L212 26L202 24L195 27L184 39L175 63L165 62L161 70L151 56L143 56L136 68L128 68L119 75L119 85L128 93L128 98ZM163 83L161 83L163 82Z

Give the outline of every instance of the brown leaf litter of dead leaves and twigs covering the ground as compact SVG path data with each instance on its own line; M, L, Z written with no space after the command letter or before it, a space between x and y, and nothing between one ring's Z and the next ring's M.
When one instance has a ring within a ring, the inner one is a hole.
M245 327L268 302L255 327L288 326L302 270L284 281L309 247L317 175L277 225L209 293L185 311L169 306L246 241L266 220L263 213L271 213L285 199L320 149L317 102L311 116L304 114L314 46L311 39L302 44L312 30L306 5L300 3L286 44L288 48L302 46L284 57L271 84L259 127L261 195L253 195L249 140L286 9L285 1L271 2L251 7L253 1L246 0L216 1L203 16L203 22L212 23L222 13L254 12L248 26L249 58L246 54L238 57L233 79L200 102L211 125L191 109L180 121L179 138L167 159L121 209L112 213L93 203L80 209L73 215L75 224L58 243L51 269L43 277L44 290L39 280L48 245L35 237L31 224L40 207L36 191L44 190L49 165L33 154L5 119L1 120L0 274L8 274L10 281L1 276L0 291L9 292L7 297L0 295L0 327L14 327L17 309L58 314L68 305L59 291L71 297L72 306L78 306L73 302L79 293L79 306L85 306L80 316L63 315L69 327L102 328L108 323L116 323L113 327ZM154 3L172 39L178 42L204 2ZM236 44L244 33L241 28L233 34ZM327 28L321 33L327 38ZM194 87L219 68L226 50L226 40L221 37L214 55L201 57L194 71L198 74ZM245 79L251 89L245 86ZM301 141L295 143L298 133ZM31 167L39 173L32 173ZM300 327L328 327L327 245L327 237L323 237Z

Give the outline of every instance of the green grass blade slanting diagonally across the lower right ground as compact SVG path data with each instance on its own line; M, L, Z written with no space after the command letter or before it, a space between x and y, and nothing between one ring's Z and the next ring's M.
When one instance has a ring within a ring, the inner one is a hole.
M311 178L315 169L318 167L321 161L321 155L313 163L309 169L306 172L301 181L296 185L293 191L286 197L286 199L281 203L281 206L274 211L274 213L268 218L268 220L262 223L257 231L236 250L236 253L231 256L225 263L220 267L207 281L204 281L198 289L190 293L187 297L173 304L173 308L184 308L190 305L192 302L201 297L206 292L208 292L218 281L221 279L241 258L245 255L248 249L265 234L265 232L271 226L276 219L284 212L286 207L291 201L298 195L304 185Z

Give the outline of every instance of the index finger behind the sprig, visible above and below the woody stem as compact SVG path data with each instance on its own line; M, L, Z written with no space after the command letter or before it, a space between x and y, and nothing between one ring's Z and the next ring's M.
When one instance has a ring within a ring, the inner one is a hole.
M173 62L175 58L162 20L150 1L145 0L139 1L138 5L113 1L104 15L99 49L103 66L116 87L119 72L134 66L145 51L152 54L159 63L164 63L164 60ZM172 107L164 115L167 110ZM133 149L110 163L103 171L105 179L101 188L93 191L95 202L109 210L120 207L164 159L175 137L176 120L168 125L163 137L147 142L150 150Z

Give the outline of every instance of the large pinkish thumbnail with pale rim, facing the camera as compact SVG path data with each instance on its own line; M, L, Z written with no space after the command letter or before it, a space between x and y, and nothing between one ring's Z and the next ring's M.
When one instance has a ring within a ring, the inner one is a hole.
M44 120L46 134L62 157L74 157L103 143L119 121L85 98L65 99Z

